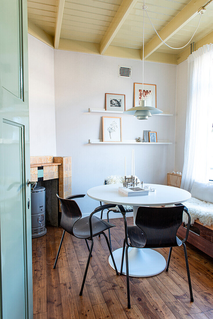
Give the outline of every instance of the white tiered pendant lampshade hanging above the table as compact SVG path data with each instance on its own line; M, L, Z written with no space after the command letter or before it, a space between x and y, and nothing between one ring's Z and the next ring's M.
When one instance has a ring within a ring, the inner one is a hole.
M160 114L163 113L163 111L159 110L158 108L153 108L152 106L146 106L146 101L141 100L140 106L129 108L123 113L133 115L137 117L138 120L148 120L148 117L152 116L152 114Z

